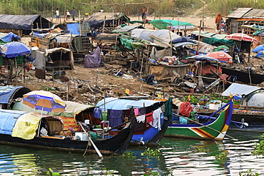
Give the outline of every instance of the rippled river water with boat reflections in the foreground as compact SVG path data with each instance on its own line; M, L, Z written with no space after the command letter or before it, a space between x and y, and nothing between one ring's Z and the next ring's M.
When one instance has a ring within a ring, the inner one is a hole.
M230 132L228 135L238 140L164 138L158 146L161 150L158 157L142 156L146 146L133 146L128 151L136 158L114 155L103 160L95 154L82 156L82 153L0 145L0 175L46 175L49 168L60 175L143 175L149 170L159 175L239 175L249 169L264 175L264 158L251 154L261 134ZM201 147L207 150L200 152ZM225 152L228 159L216 160L215 155L220 152Z

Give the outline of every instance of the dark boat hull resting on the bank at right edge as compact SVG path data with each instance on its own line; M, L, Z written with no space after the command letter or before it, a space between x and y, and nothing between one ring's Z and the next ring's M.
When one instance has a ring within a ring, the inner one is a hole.
M248 71L241 71L235 68L228 68L222 66L222 72L227 74L228 76L236 76L237 81L241 81L243 83L253 83L258 84L264 81L264 74L260 73L248 73Z

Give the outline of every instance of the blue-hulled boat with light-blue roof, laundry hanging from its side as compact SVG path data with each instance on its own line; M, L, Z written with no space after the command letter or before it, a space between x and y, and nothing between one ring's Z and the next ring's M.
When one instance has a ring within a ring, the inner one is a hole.
M136 97L131 97L136 98ZM171 100L161 101L161 100L131 100L128 97L126 98L105 98L105 100L101 100L98 102L97 106L99 108L105 108L106 110L126 110L131 113L131 107L133 108L146 108L146 112L150 113L151 111L155 111L160 108L162 105L166 106L166 103L171 103ZM146 114L147 114L146 113ZM128 113L126 113L127 115ZM139 130L135 125L135 130L133 133L133 137L131 138L131 145L158 145L158 143L163 138L163 135L166 133L168 125L170 123L169 120L163 118L161 115L161 126L160 128L153 127L152 125L147 125L146 128ZM136 122L136 124L138 124Z

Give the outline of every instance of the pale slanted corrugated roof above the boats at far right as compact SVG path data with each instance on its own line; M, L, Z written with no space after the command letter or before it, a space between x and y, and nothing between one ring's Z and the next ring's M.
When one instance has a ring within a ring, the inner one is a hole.
M255 90L260 90L261 88L257 86L248 86L239 83L231 84L223 93L222 96L229 96L230 93L233 95L248 95L253 93Z

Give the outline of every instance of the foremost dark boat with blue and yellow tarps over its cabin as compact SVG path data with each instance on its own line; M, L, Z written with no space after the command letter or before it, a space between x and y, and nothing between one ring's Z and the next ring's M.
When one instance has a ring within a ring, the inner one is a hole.
M64 129L61 118L53 115L0 110L0 120L0 143L73 152L96 152L97 148L101 153L106 154L121 154L126 150L131 141L135 124L135 118L132 118L131 122L127 123L126 127L115 136L93 140L96 146L94 147L94 145L89 145L89 141L85 138L78 140L75 138L76 136L64 138L65 136L53 135L56 134L56 131ZM46 124L49 136L36 137L36 130L40 130L39 126L43 124Z

